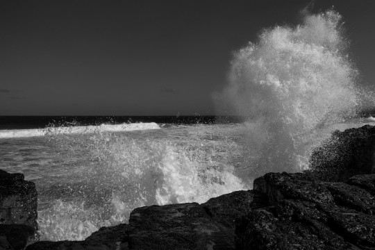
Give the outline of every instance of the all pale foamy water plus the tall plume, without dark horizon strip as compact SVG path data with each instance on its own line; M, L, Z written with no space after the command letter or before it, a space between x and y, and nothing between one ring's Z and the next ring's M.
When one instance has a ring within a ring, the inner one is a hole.
M332 131L374 124L357 116L374 108L374 92L360 85L342 27L334 10L306 13L237 51L215 101L242 122L10 128L0 167L36 183L42 240L83 240L133 208L201 203L266 172L308 169Z

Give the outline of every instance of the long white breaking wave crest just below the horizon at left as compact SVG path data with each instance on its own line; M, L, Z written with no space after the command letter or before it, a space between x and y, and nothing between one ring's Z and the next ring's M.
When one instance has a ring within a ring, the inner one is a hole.
M101 124L100 126L59 126L33 129L1 130L0 138L27 138L56 134L85 134L97 132L140 131L160 129L155 122L133 124Z

